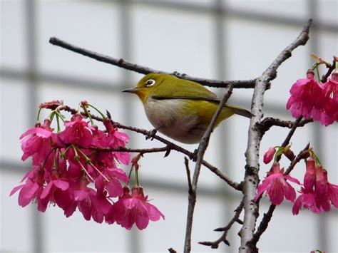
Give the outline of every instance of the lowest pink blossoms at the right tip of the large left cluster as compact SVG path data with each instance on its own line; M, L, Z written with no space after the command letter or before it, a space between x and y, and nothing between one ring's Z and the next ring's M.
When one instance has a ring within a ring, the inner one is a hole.
M138 229L145 229L149 220L155 222L160 217L164 219L164 215L148 202L148 196L143 195L142 187L133 187L131 195L129 187L124 187L122 197L111 207L106 222L116 222L128 230L135 223Z

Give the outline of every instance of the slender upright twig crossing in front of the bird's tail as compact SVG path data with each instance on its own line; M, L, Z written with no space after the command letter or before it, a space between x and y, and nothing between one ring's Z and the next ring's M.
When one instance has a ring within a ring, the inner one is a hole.
M197 190L197 185L198 185L198 177L200 175L200 167L203 164L202 162L203 156L205 154L205 150L208 148L210 135L215 126L218 115L220 115L220 112L223 106L225 105L225 103L227 103L227 100L230 98L230 95L232 93L232 88L233 88L232 86L227 87L224 97L220 101L220 104L218 105L217 110L212 116L212 120L210 124L208 125L208 128L205 131L203 138L200 140L200 145L198 145L198 155L197 155L195 170L193 174L192 191L190 192L189 197L188 197L189 202L188 202L187 227L185 229L185 244L184 244L185 253L189 253L191 250L191 232L193 229L193 215L194 215L195 203L196 203L196 190Z

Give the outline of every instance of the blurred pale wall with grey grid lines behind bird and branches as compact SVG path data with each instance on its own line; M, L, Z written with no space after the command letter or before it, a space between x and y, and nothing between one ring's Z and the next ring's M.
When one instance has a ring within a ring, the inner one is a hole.
M275 57L314 19L306 46L278 70L272 89L265 96L265 116L291 120L285 110L289 89L312 65L310 53L327 61L338 52L338 4L336 0L244 1L4 1L0 4L0 252L182 252L188 187L183 155L172 152L145 155L140 162L140 182L164 214L165 221L147 229L126 231L118 225L83 220L81 213L63 216L61 209L48 207L39 213L36 205L19 207L19 185L30 161L21 162L19 136L31 128L39 103L63 99L76 108L88 100L113 120L138 128L152 129L136 96L121 93L135 86L142 76L94 61L48 43L56 36L69 43L162 71L222 80L260 76ZM222 89L215 90L222 95ZM230 102L250 108L252 90L237 89ZM212 135L205 156L212 165L238 182L245 166L249 120L233 117ZM130 148L161 147L143 135L128 133ZM286 129L272 128L262 140L261 155L280 145ZM337 124L325 128L317 123L299 128L292 138L295 153L310 141L329 181L338 184ZM184 145L193 151L197 145ZM288 166L287 162L283 163ZM193 163L190 164L193 168ZM260 176L269 169L261 164ZM292 172L302 179L304 165ZM215 240L240 202L233 192L209 170L200 175L193 224L193 252L237 252L238 224L230 230L231 247L219 249L199 245ZM260 212L269 202L263 200ZM305 210L293 216L291 205L277 207L258 247L261 252L337 252L337 210L314 215ZM260 218L261 219L261 218ZM260 220L259 219L259 220Z

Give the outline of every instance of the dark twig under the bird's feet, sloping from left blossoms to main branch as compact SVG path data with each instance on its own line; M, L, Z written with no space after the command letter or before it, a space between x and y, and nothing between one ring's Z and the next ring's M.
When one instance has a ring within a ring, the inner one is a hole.
M55 110L56 106L55 105L51 105L47 107L48 109L51 110ZM78 110L69 107L68 105L64 105L60 110L65 110L68 113L71 114L75 114L78 113ZM86 113L81 113L84 116L87 116ZM98 117L96 115L92 115L91 114L91 118L93 118L94 120L98 120L98 121L103 121L103 119L101 117ZM130 130L133 131L135 133L140 133L143 134L145 136L149 136L150 131L145 130L145 129L140 129L140 128L134 128L128 125L122 125L120 123L117 123L113 120L111 120L111 122L113 123L113 125L116 126L116 128L121 128L121 129L126 129L126 130ZM158 135L153 135L152 139L158 140L161 143L164 143L165 145L167 145L168 150L175 150L179 153L183 153L184 155L188 155L188 157L190 159L193 159L195 157L194 153L186 150L185 148L180 147L179 145L175 145L175 143L170 142L169 140L162 138ZM228 185L230 185L230 187L234 188L235 190L242 190L242 185L240 183L237 183L235 181L233 181L232 179L230 179L230 177L227 177L226 175L224 175L220 170L217 169L217 167L210 165L209 162L202 160L202 165L204 165L205 167L207 167L211 172L213 172L215 175L217 175L218 177L220 177L220 179L224 180L225 182L227 182Z

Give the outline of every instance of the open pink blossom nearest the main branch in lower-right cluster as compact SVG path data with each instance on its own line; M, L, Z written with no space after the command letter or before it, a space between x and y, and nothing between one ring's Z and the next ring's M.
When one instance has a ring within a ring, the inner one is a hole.
M270 197L270 201L274 205L280 205L284 197L287 200L293 202L296 198L296 192L295 189L287 182L287 180L297 184L300 183L294 177L290 177L290 175L284 175L283 173L284 169L280 170L280 163L275 162L272 165L272 170L268 173L268 176L260 185L258 185L255 201L257 201L260 195L266 191L267 195Z

